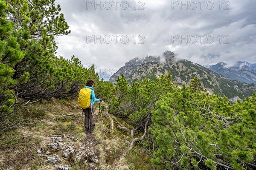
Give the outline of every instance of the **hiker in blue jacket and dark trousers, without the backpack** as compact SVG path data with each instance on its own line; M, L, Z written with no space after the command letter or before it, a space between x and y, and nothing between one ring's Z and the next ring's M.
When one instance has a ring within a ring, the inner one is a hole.
M95 106L94 106L94 102L102 102L102 99L96 99L95 94L94 94L94 90L93 90L93 84L94 81L93 79L88 79L86 82L86 86L85 88L90 88L91 89L91 96L90 96L90 106L89 108L83 109L84 111L84 127L85 130L84 132L89 132L89 122L90 122L90 133L93 133L93 129L95 127L94 124L94 110L95 110Z

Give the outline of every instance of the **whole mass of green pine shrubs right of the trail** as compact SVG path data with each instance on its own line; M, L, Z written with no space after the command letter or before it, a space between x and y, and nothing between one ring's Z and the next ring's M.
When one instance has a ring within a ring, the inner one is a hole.
M116 81L108 110L133 130L143 127L134 142L143 142L155 168L255 167L256 93L232 105L225 96L205 94L197 77L181 89L170 76L131 86L123 76Z

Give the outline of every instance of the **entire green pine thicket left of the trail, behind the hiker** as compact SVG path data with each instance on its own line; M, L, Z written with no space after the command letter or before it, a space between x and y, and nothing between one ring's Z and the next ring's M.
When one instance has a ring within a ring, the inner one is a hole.
M55 56L54 36L70 33L60 10L55 0L0 0L0 136L29 117L44 116L27 109L20 119L16 112L21 105L73 98L89 78L96 82L96 94L111 96L113 85L99 79L94 65L84 68L75 56Z

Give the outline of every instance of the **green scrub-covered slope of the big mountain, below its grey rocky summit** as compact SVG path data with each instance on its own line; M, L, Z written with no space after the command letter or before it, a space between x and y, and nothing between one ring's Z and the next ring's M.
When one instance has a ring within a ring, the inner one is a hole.
M157 63L159 64L159 63ZM215 74L214 72L207 70L201 65L194 64L187 60L182 60L177 63L173 63L172 60L166 60L166 63L160 63L162 67L158 67L158 71L161 74L166 74L166 72L171 71L172 78L176 80L175 77L179 77L181 81L185 81L186 85L189 85L190 80L197 76L200 79L204 88L211 89L213 94L219 94L220 96L227 96L229 99L234 97L239 97L240 99L245 99L247 96L252 96L253 92L255 92L256 86L251 83L247 84L244 82L231 81L225 79L219 74ZM182 70L180 66L182 65ZM148 62L143 63L140 67L135 68L136 71L132 71L132 73L125 77L129 84L132 82L142 82L143 79L148 78L151 81L155 81L157 76L160 76L157 73L157 68L155 68L155 64ZM151 70L148 68L152 68ZM185 69L185 70L184 70ZM145 76L137 77L136 79L132 79L134 74L143 72ZM157 74L156 74L157 73ZM180 82L177 82L180 83ZM236 89L239 88L239 90Z

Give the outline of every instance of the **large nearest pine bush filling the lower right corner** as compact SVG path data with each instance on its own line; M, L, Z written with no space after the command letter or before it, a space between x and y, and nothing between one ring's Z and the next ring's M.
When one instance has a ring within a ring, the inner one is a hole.
M152 111L152 163L160 169L253 169L253 100L231 105L186 86L169 93Z

